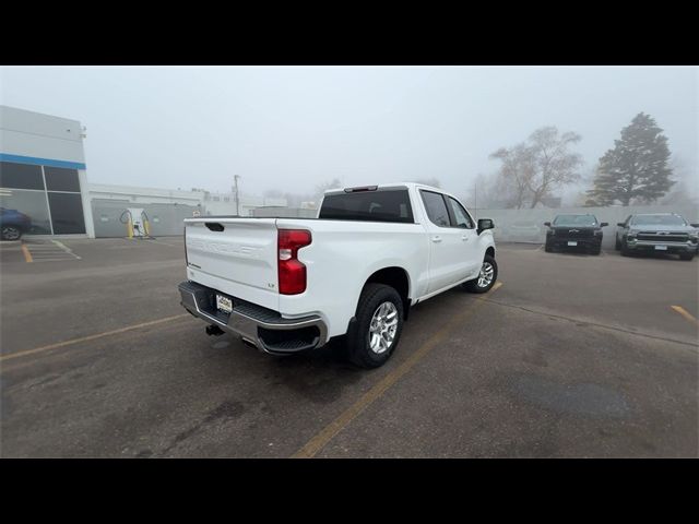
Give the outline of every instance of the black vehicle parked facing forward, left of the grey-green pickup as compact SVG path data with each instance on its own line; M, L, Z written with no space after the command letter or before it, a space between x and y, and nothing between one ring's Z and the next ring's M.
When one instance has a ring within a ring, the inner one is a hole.
M592 254L602 249L602 228L606 222L597 222L594 215L558 215L554 222L545 222L546 252L555 248L584 248Z

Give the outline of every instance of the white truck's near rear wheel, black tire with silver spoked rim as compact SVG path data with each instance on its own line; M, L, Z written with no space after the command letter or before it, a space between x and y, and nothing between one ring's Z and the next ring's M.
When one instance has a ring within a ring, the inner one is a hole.
M347 333L346 353L362 368L383 366L403 331L403 300L391 286L367 284L359 297L356 322Z

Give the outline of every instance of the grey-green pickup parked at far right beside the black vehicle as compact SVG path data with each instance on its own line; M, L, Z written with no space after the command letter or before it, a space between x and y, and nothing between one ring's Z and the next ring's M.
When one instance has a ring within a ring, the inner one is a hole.
M629 215L617 224L616 249L628 257L642 251L676 253L682 260L697 254L699 224L689 224L676 213Z

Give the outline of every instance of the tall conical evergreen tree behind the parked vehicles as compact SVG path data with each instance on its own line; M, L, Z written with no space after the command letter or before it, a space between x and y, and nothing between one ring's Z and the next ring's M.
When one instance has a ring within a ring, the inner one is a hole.
M664 195L675 183L670 179L670 148L655 120L640 112L621 130L597 167L591 202L609 205L616 201L629 205L632 200L650 203Z

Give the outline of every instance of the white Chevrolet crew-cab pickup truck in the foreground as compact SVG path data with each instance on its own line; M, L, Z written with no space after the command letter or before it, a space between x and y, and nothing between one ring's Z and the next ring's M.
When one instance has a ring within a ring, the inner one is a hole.
M270 354L346 335L348 358L375 368L395 350L411 306L458 285L493 287L491 228L418 183L327 191L316 218L187 218L181 303L208 334Z

